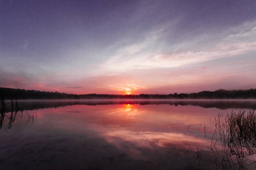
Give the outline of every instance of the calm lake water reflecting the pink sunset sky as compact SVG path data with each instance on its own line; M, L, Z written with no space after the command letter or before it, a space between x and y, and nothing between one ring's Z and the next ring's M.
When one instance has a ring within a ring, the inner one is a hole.
M222 113L255 109L256 101L18 104L23 112L11 120L9 109L0 129L0 169L239 169L215 124ZM242 164L255 169L255 160L252 154Z

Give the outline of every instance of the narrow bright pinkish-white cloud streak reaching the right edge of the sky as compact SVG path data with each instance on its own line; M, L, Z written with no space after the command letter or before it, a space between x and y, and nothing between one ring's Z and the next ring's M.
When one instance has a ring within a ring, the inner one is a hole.
M124 71L131 69L171 68L209 61L217 58L237 56L255 51L256 42L240 42L236 44L218 44L216 48L200 52L181 52L173 54L157 54L153 57L140 56L120 62L113 59L103 67L109 71Z

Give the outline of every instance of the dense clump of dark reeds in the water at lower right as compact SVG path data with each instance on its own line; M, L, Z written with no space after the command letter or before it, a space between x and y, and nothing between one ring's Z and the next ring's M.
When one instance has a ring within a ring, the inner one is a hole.
M255 163L255 160L250 159L256 154L254 111L232 111L226 116L219 114L215 118L215 128L222 144L222 168L232 169L233 164L238 165L239 169L247 169L250 165L248 162Z

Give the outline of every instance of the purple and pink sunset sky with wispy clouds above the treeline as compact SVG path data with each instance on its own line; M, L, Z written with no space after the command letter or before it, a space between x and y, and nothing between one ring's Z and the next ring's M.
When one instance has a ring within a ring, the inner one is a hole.
M68 94L256 88L256 1L0 0L0 87Z

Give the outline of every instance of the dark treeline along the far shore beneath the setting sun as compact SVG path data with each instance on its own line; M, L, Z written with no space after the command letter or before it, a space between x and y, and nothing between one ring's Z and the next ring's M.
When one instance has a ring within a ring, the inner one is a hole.
M5 99L256 99L256 89L201 91L192 94L140 94L140 95L74 95L60 92L46 92L0 87L0 96Z

